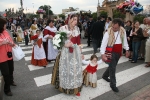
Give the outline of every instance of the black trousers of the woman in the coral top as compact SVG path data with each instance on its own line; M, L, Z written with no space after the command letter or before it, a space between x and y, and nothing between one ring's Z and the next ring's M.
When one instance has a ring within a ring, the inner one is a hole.
M10 84L13 83L13 71L14 71L14 62L13 60L8 60L6 62L0 63L0 70L4 77L4 92L10 92Z

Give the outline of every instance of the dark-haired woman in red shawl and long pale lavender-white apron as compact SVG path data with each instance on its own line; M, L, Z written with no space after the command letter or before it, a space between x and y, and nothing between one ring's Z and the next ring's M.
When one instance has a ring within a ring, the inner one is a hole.
M47 58L47 61L49 62L52 60L55 60L58 54L58 50L54 49L53 44L52 44L52 39L55 36L56 32L57 32L57 29L54 26L54 21L48 20L47 26L43 31L44 39L46 39L46 41L43 44L44 44L44 49L46 53L46 58Z

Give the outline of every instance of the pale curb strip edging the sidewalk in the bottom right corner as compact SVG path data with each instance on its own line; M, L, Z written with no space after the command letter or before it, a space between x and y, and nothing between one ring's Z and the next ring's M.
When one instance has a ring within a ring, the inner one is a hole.
M141 93L145 92L145 91L148 90L149 88L150 88L150 85L147 85L147 86L145 86L145 87L141 88L140 90L138 90L138 91L132 93L131 95L129 95L128 97L126 97L126 98L124 98L124 99L122 99L122 100L132 100L132 99L134 99L135 97L139 97L139 95L140 95Z

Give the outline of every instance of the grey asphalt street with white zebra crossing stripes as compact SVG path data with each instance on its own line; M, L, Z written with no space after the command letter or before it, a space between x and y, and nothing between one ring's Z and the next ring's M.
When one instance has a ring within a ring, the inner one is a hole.
M86 41L87 39L81 39L82 51L85 59L89 60L93 54L93 48L92 45L87 47ZM54 62L49 63L46 68L33 66L30 63L32 45L25 46L24 43L19 45L25 52L25 57L15 62L14 81L17 86L11 86L13 96L8 97L4 94L4 100L123 100L150 84L150 68L144 67L144 61L138 60L137 63L131 63L122 56L116 68L119 93L113 92L109 83L102 79L102 74L108 67L102 63L98 66L96 88L83 86L81 96L66 95L50 84ZM96 55L100 58L100 53ZM83 65L83 68L85 67Z

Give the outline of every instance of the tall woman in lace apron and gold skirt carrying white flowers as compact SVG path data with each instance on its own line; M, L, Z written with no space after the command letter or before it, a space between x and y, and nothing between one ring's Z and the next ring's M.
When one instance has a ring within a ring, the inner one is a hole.
M51 84L66 94L80 96L82 78L82 59L80 46L80 30L77 25L77 16L70 15L68 25L60 27L61 32L67 33L61 53L57 56Z

